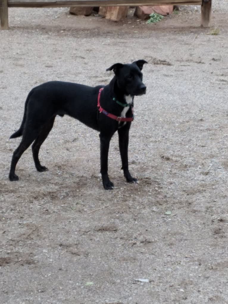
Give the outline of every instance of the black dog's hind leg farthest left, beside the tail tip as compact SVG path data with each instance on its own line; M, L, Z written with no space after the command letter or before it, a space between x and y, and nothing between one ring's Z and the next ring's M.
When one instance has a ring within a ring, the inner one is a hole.
M21 143L19 144L17 149L13 152L10 171L9 171L9 180L10 181L19 180L18 176L15 174L16 164L19 161L22 154L25 152L26 149L28 149L28 147L31 145L33 140L36 139L36 137L38 136L38 134L40 132L39 129L35 129L35 130L29 129L29 131L27 131L27 130L24 130Z

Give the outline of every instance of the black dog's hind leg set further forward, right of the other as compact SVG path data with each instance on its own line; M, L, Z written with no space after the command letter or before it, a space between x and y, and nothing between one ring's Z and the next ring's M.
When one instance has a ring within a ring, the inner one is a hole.
M42 128L42 130L39 133L39 136L36 138L32 145L32 152L33 152L33 160L36 166L36 170L39 172L47 171L48 168L41 166L40 160L39 160L39 151L40 146L44 142L44 140L47 138L48 134L50 133L50 130L53 127L55 121L55 116L51 118Z

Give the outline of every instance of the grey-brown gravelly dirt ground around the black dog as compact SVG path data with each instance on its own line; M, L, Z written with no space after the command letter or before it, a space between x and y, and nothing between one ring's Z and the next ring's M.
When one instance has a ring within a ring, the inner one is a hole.
M7 304L228 303L228 23L216 1L147 25L76 17L68 9L10 9L0 31L0 299ZM58 117L18 182L8 180L29 90L63 80L107 84L116 62L145 59L135 98L130 171L111 141L105 191L99 137ZM148 280L146 282L138 279Z

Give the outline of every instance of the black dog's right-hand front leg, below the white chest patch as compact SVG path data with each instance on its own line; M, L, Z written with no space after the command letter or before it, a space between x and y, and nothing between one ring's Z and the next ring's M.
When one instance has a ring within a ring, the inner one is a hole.
M137 183L137 178L133 178L128 170L128 142L129 142L129 130L130 126L125 125L118 129L119 135L119 152L122 161L123 174L126 181L129 183Z

